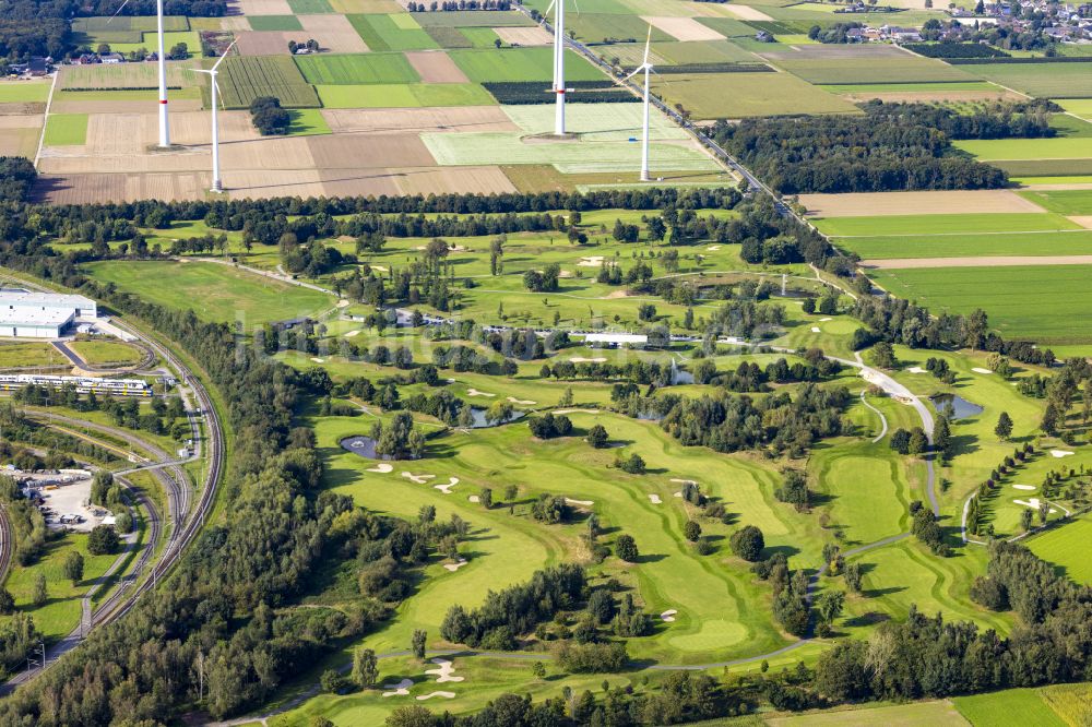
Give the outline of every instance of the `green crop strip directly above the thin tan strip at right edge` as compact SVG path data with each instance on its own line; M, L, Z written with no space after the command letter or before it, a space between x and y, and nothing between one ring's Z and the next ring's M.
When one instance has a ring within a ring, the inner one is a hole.
M1092 230L842 237L834 243L864 260L997 255L1092 255Z

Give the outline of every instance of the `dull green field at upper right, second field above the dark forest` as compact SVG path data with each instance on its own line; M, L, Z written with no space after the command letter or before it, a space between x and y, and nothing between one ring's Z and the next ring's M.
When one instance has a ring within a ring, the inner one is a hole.
M860 58L860 59L807 59L775 60L790 73L808 83L847 85L854 83L936 83L938 81L973 81L974 76L962 68L948 65L931 58Z

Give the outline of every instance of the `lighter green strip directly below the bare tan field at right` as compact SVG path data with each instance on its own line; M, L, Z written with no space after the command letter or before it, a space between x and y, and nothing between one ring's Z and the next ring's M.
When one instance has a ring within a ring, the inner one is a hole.
M1061 215L1052 213L995 213L947 215L883 215L878 217L831 217L811 221L831 237L911 237L922 235L973 235L975 233L1036 233L1081 229ZM953 237L953 241L959 238Z

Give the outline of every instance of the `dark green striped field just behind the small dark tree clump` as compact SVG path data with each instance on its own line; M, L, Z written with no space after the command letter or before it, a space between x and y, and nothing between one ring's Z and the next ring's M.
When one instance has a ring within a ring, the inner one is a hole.
M288 56L229 56L219 68L221 97L228 108L247 108L259 96L275 96L287 108L319 105L314 88Z

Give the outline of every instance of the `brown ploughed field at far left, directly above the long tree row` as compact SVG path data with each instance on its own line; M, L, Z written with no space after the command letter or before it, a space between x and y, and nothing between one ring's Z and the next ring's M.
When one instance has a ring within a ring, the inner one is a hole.
M36 193L50 204L197 200L204 196L209 177L201 172L43 176Z

